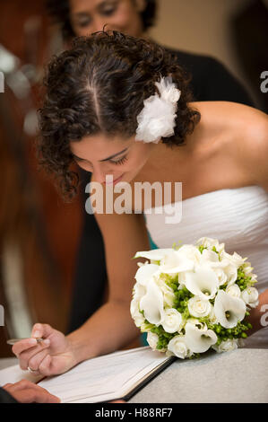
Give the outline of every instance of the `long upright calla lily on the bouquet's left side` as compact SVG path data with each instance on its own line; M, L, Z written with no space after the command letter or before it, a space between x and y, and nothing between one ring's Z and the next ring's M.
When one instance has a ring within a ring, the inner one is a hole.
M152 278L147 286L146 294L141 299L140 309L144 311L145 319L151 324L155 324L158 327L163 321L163 294Z

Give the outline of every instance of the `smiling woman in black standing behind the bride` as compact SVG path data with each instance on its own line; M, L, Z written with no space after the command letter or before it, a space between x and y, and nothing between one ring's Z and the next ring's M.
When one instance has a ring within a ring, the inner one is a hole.
M104 27L148 38L147 31L153 26L157 13L157 0L47 0L47 5L48 12L60 25L67 45L75 36L90 35ZM175 54L178 63L185 68L195 101L234 101L254 105L244 87L216 58L165 48ZM91 173L81 169L80 176L81 189L85 192ZM88 195L83 195L85 204ZM151 248L154 247L151 242ZM79 328L99 309L105 301L106 285L102 236L95 216L84 210L68 332Z

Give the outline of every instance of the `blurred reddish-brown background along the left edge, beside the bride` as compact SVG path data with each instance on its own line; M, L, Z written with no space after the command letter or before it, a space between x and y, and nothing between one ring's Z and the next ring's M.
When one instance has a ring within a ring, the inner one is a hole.
M43 65L62 41L44 2L1 0L0 70L0 356L6 338L28 337L33 322L65 331L82 204L65 204L38 170L34 150Z

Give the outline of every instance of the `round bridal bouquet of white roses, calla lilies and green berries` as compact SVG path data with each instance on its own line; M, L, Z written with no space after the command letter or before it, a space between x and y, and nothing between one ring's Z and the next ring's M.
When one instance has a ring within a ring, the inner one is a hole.
M135 254L150 262L138 263L130 312L153 350L193 358L211 347L233 350L247 337L252 326L245 318L258 304L256 275L247 258L224 246L203 237Z

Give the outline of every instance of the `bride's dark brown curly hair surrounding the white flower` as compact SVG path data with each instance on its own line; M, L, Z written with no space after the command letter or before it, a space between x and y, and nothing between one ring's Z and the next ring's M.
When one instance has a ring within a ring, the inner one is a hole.
M181 145L200 119L189 107L192 94L177 57L152 41L117 31L78 37L73 46L52 57L44 77L45 97L39 109L39 163L56 180L65 199L77 193L79 176L70 142L83 136L134 136L143 101L157 92L160 77L172 76L181 91L174 136L169 146Z

